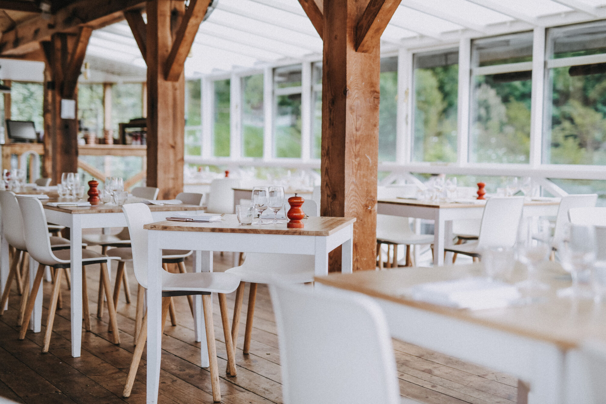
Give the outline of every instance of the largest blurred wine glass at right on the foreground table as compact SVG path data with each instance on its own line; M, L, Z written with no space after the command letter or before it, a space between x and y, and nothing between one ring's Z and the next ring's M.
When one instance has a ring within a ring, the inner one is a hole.
M563 241L558 246L558 255L562 268L570 272L572 278L572 286L559 290L558 295L591 297L591 292L587 288L582 289L579 281L589 281L596 259L594 227L568 223Z

